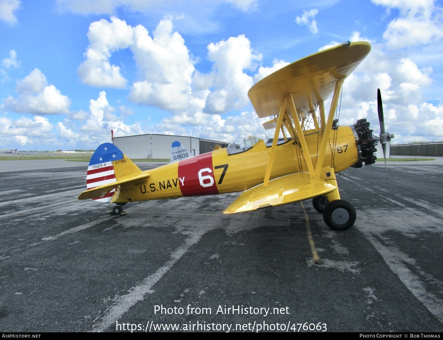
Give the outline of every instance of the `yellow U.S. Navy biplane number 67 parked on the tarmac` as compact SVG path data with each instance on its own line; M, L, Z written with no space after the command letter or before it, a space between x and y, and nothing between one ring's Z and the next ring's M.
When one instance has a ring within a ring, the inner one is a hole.
M115 145L100 145L89 163L88 190L78 199L117 203L118 215L128 202L243 191L223 213L312 199L330 228L352 227L356 212L340 199L335 174L373 164L377 142L385 147L393 138L384 126L380 137L373 137L365 119L351 126L338 126L334 119L343 81L370 50L366 42L342 43L257 82L248 95L259 118L272 117L263 124L275 129L267 142L249 137L242 149L233 143L149 171L141 171ZM382 123L380 94L378 101Z

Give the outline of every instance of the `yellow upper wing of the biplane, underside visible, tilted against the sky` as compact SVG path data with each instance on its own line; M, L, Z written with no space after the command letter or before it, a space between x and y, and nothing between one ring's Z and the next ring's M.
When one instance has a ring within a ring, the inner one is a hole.
M369 43L343 43L291 63L257 82L248 92L259 118L278 114L282 98L292 94L295 106L312 112L371 51Z

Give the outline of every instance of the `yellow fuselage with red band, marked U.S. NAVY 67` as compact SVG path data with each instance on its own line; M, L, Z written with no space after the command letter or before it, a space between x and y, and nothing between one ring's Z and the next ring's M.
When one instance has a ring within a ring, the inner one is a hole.
M358 148L350 126L340 126L331 133L323 166L340 172L358 161ZM309 155L303 155L297 140L282 142L276 147L270 179L294 172L308 172L305 158L314 167L321 143L321 134L305 132ZM263 183L271 146L260 140L251 148L229 154L218 149L186 160L147 171L149 176L120 185L112 202L126 203L150 199L213 195L244 191Z

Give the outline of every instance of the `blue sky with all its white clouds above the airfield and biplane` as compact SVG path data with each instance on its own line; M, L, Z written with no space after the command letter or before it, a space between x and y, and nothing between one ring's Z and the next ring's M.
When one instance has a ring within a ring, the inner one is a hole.
M95 149L115 136L264 137L247 91L346 40L373 50L340 124L376 91L396 142L443 140L443 24L432 0L0 0L0 149Z

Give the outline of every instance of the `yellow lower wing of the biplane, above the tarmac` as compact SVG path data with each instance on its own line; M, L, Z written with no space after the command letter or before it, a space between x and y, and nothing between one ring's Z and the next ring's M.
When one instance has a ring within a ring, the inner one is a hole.
M268 188L260 184L246 190L223 211L223 214L252 211L280 204L303 201L305 199L326 195L336 188L335 185L326 183L324 180L311 178L307 172L297 172L270 180Z

